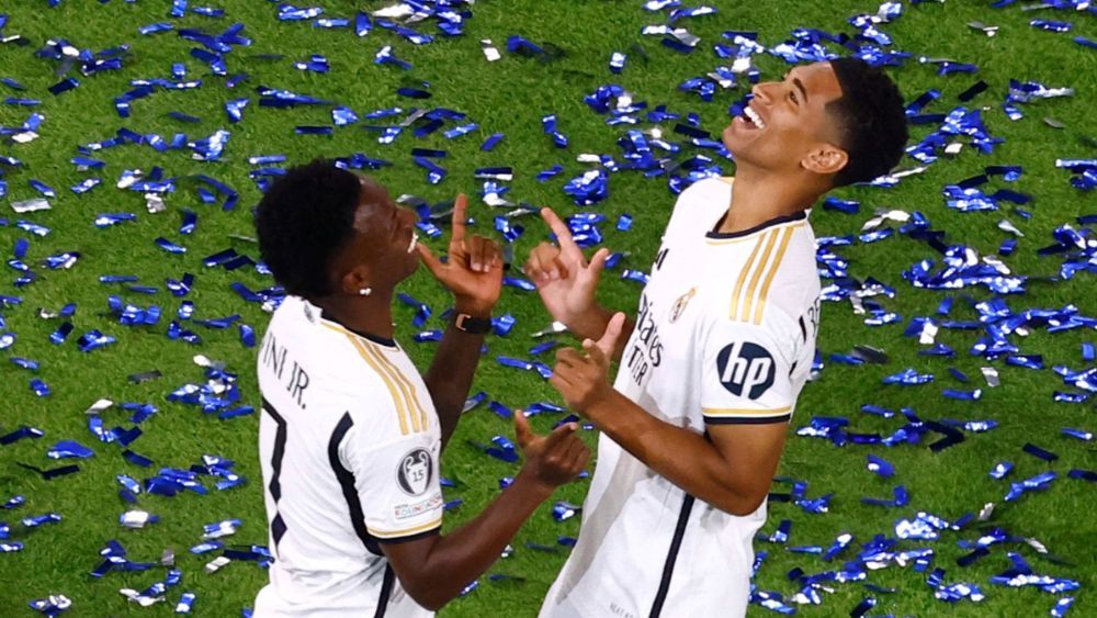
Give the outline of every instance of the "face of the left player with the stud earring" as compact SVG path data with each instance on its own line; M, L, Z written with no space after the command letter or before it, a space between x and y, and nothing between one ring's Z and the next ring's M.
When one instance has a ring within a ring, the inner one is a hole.
M354 235L332 262L336 289L352 294L367 286L395 288L419 266L415 213L397 206L374 180L359 180Z

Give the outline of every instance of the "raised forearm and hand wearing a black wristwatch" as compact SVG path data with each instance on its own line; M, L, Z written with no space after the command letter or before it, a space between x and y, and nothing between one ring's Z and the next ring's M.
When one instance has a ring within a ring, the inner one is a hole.
M453 293L455 305L453 319L423 378L438 412L443 448L468 396L484 336L491 328L491 310L502 286L502 259L498 246L478 234L466 234L467 203L461 194L453 204L453 227L445 263L427 246L417 246L431 274Z

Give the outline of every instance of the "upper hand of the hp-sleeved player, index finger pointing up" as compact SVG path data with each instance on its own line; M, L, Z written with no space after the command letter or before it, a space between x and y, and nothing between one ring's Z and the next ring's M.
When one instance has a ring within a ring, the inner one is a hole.
M556 235L559 247L548 243L534 247L525 261L525 276L536 285L553 319L577 332L576 324L597 307L595 289L610 251L601 248L588 262L567 225L552 209L541 209L541 216Z

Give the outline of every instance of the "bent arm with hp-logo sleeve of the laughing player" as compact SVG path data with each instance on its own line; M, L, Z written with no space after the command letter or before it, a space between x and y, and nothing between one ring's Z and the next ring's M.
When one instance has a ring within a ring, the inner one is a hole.
M701 395L706 437L648 414L610 386L607 352L617 346L622 317L615 315L597 341L585 340L584 351L559 350L552 385L568 407L688 494L732 515L754 513L769 493L788 432L792 393L785 355L749 325L713 329ZM724 349L743 338L762 342L751 345L767 350L765 363ZM727 384L737 385L739 394Z

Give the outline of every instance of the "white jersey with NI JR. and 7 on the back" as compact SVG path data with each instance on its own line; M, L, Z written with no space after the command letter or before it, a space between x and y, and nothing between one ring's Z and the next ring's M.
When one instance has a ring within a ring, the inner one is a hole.
M258 360L259 456L274 563L256 618L421 617L380 544L442 524L441 432L395 341L287 296Z

